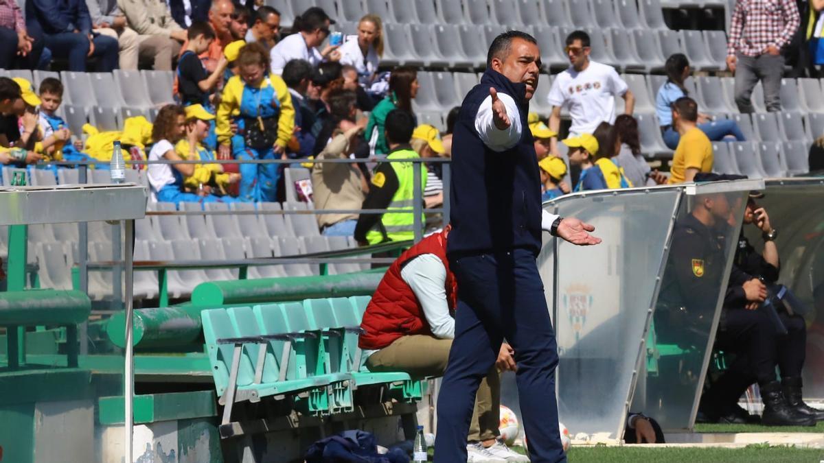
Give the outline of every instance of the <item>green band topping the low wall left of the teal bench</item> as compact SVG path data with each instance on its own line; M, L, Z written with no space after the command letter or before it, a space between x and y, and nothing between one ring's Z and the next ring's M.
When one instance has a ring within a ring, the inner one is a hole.
M135 424L218 416L218 405L213 391L135 395L133 404ZM122 395L101 397L97 409L97 423L124 423Z

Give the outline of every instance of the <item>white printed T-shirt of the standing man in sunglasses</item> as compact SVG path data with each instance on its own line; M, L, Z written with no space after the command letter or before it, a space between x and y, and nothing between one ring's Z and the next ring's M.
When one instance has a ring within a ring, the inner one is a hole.
M623 96L627 87L615 68L590 60L581 72L569 67L555 76L550 105L566 107L572 116L570 134L592 133L598 124L612 124L616 119L616 96Z

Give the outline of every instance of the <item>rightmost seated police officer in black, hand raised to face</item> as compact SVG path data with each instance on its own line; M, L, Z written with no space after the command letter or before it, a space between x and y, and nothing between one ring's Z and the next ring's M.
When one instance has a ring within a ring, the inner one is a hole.
M778 320L772 318L772 325L775 333L776 362L781 373L781 384L784 396L789 407L794 414L812 418L816 421L824 419L824 412L813 409L804 403L802 399L801 371L806 355L807 326L802 316L791 313L787 306L773 297L780 290L776 285L780 272L780 259L778 248L775 246L775 238L778 231L772 227L770 216L765 208L761 208L756 199L761 199L764 194L752 191L747 199L747 209L744 213L744 225L757 227L761 231L761 238L764 241L764 249L761 253L756 252L743 231L738 238L738 246L733 263L735 270L731 275L731 281L724 299L724 314L735 310L743 305L749 311L769 311L773 310L769 306L761 307L758 302L744 302L744 288L735 284L737 282L754 285L756 282L765 283L764 290L770 297L769 304L775 304L775 315ZM769 312L766 312L769 313ZM726 317L724 317L724 321ZM728 372L714 384L713 389L719 397L720 404L728 410L726 416L722 416L723 421L732 423L747 422L747 412L737 406L737 398L753 382L751 372L747 371L747 356L737 358L731 365Z

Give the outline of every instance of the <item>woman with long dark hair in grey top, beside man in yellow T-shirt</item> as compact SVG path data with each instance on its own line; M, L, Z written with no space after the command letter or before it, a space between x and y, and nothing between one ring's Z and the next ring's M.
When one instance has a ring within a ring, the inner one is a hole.
M672 110L671 110L672 112ZM672 114L670 115L672 118ZM641 154L641 141L638 133L638 121L631 115L616 117L615 143L618 156L613 161L624 170L626 178L634 186L662 185L667 183L667 175L656 169L650 169L649 164Z

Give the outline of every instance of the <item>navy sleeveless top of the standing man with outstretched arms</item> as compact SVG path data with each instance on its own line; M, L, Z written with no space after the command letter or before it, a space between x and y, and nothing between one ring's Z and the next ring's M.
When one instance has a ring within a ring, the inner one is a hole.
M475 115L489 87L512 96L523 131L518 143L494 152L475 130ZM526 248L541 250L541 174L528 129L526 86L487 69L461 104L452 141L447 254L481 254Z

